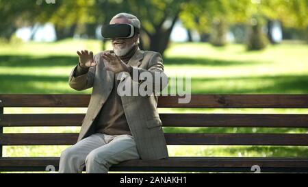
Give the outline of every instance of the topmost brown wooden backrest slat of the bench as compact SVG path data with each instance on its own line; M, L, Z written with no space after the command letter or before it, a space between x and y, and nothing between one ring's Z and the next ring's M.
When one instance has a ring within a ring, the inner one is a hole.
M191 95L160 96L159 108L308 108L308 95ZM0 95L0 107L88 107L90 95Z

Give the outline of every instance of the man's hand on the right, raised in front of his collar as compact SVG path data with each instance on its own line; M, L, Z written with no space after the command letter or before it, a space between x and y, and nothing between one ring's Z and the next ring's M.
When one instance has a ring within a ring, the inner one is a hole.
M101 57L106 60L107 64L105 66L106 71L112 71L114 73L119 73L122 71L129 71L129 65L125 64L120 58L111 54L110 52L106 52L101 54Z

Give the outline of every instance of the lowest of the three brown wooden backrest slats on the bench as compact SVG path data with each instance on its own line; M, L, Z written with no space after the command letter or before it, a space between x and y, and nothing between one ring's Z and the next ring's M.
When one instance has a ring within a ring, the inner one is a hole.
M0 134L1 145L73 145L78 134ZM308 145L308 134L165 133L168 145Z

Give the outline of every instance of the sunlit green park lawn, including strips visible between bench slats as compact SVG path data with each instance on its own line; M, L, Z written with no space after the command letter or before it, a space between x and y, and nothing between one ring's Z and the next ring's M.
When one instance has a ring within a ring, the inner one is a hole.
M110 47L110 44L107 45ZM90 94L68 86L77 64L76 51L99 52L97 40L29 42L0 46L0 93ZM192 94L308 94L307 45L274 45L245 51L242 45L211 47L205 43L172 43L164 56L169 77L187 75ZM9 113L84 113L86 108L5 108ZM159 109L159 112L308 114L307 109ZM5 127L4 133L78 132L80 127ZM303 128L175 128L164 132L307 133ZM65 146L4 147L3 156L59 156ZM170 156L303 156L307 147L168 146Z

